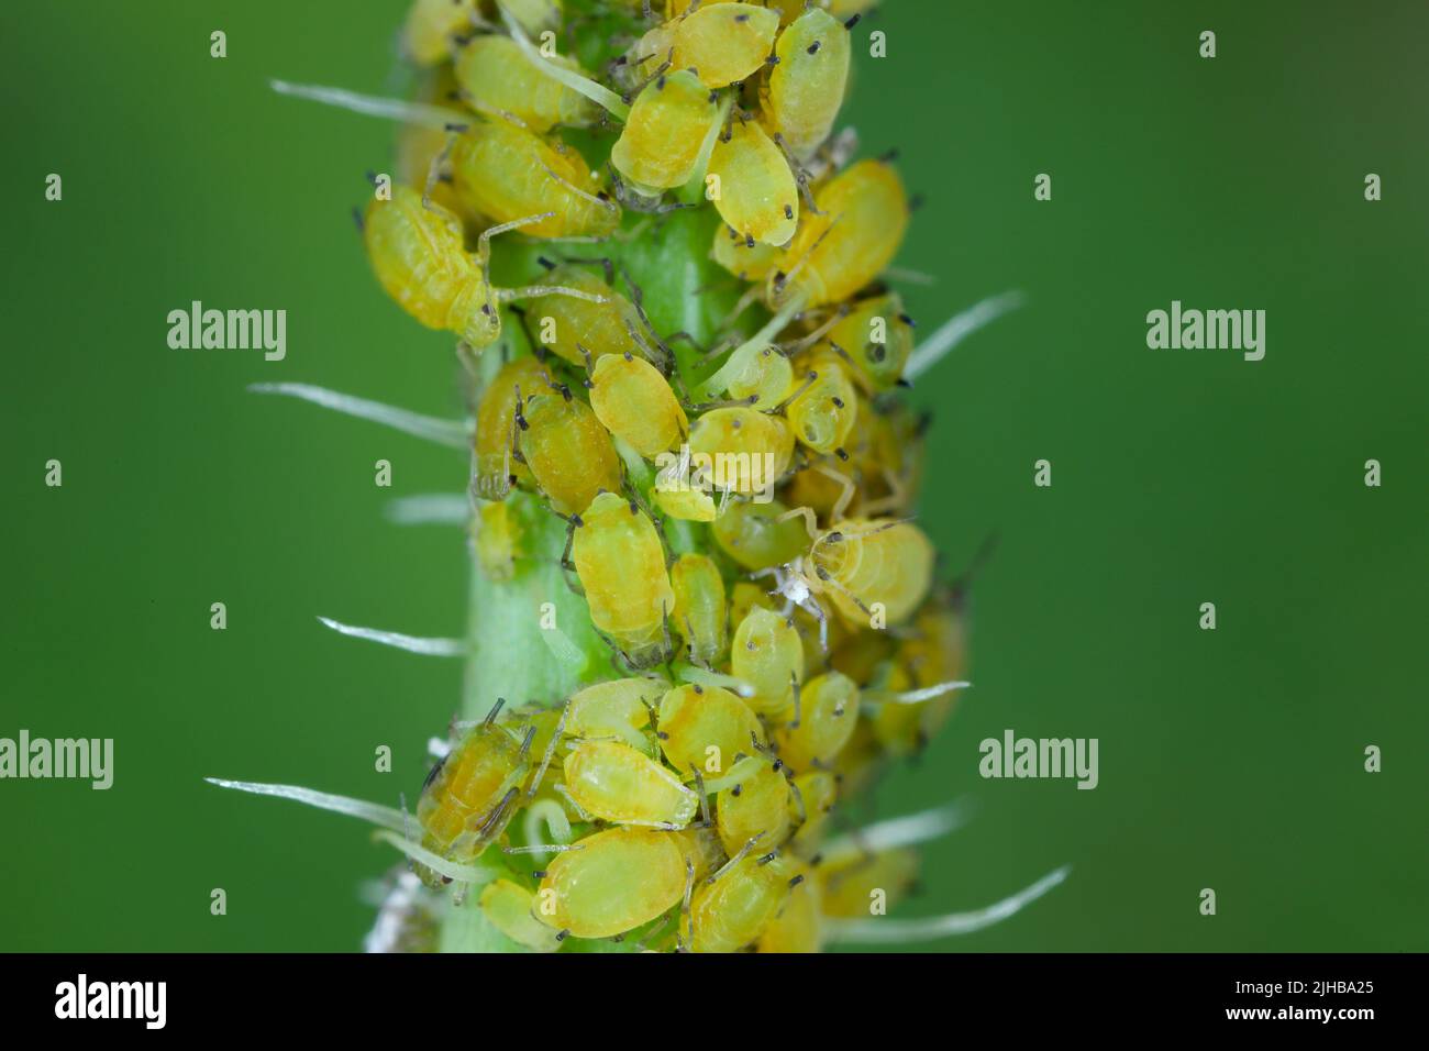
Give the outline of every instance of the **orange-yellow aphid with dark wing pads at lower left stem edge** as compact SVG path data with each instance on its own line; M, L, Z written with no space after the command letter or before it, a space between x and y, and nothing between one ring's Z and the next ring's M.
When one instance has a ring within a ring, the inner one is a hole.
M512 819L516 796L530 769L530 742L496 725L492 708L432 771L417 802L422 845L459 864L470 864ZM442 877L419 867L429 887Z

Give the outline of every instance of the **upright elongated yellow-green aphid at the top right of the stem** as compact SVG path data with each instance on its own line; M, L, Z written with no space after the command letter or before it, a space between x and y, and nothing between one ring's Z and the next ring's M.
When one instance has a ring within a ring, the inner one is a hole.
M779 61L765 82L765 119L799 160L809 160L833 130L852 53L849 30L817 7L795 19L775 43Z

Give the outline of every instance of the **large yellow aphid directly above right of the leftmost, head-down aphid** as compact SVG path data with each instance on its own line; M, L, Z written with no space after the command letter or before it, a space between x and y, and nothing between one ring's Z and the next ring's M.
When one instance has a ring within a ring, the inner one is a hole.
M532 237L604 237L620 224L620 206L602 196L580 154L504 120L474 120L449 153L456 190L472 209L499 223L542 216L523 227Z

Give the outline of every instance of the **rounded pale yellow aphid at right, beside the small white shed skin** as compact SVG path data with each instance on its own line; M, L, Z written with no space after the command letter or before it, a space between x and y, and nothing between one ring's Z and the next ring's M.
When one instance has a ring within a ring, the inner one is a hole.
M912 522L850 519L815 541L817 582L849 621L906 621L933 582L933 545Z

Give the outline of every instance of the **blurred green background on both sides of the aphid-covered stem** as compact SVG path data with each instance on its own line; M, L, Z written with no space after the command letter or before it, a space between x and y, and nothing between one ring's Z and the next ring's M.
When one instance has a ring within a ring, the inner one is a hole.
M993 529L1002 546L976 592L976 688L880 796L980 804L900 914L1072 862L1013 921L930 948L1426 949L1429 11L1180 7L889 0L859 30L889 54L862 57L847 122L866 154L900 147L926 197L899 259L937 276L905 286L923 332L1029 297L913 393L936 418L925 528L950 569ZM0 14L0 735L117 751L109 792L0 782L0 949L349 949L372 918L357 885L394 855L359 824L201 778L410 799L457 704L457 662L314 615L462 631L460 532L383 506L457 490L464 460L244 393L462 408L449 340L386 300L347 214L393 129L266 87L404 90L402 13ZM166 315L193 299L286 309L287 359L170 350ZM1172 299L1265 309L1265 360L1149 350L1145 315ZM1005 728L1099 738L1100 786L982 781L977 742ZM393 774L373 771L382 744Z

